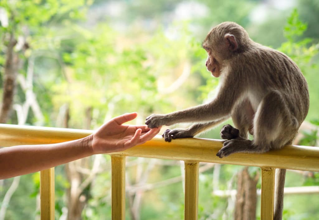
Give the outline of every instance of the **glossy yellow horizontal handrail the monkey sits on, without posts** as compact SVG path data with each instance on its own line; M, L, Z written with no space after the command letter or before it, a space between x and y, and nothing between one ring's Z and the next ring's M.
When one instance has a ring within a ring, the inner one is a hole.
M0 124L0 146L58 143L82 138L92 132L80 129ZM168 143L157 135L145 144L110 155L319 171L318 147L289 145L263 154L238 153L220 159L216 154L221 147L221 140L183 138Z

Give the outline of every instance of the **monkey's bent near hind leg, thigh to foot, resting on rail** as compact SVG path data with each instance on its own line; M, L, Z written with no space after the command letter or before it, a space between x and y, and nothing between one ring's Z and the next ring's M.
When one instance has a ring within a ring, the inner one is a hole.
M287 144L297 132L298 122L289 112L282 95L268 93L261 101L254 118L254 140L231 139L224 142L217 156L234 153L264 153ZM292 134L293 133L293 134Z

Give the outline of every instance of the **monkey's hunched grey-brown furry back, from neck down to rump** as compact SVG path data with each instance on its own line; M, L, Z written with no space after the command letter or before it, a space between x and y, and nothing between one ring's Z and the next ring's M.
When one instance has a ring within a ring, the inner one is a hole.
M305 119L309 109L308 84L291 58L259 44L238 57L241 58L241 63L237 64L239 72L248 76L247 85L252 85L252 92L258 91L257 94L264 96L279 91L297 120L301 123Z

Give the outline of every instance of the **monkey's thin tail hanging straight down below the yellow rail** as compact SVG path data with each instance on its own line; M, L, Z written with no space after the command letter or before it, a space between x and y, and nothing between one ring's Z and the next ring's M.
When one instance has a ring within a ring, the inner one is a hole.
M282 211L284 209L285 177L286 177L286 169L276 169L274 220L282 219Z

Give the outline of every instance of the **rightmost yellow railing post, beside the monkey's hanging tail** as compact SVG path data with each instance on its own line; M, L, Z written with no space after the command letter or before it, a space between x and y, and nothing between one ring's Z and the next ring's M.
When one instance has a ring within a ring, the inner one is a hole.
M273 220L275 169L261 168L261 220Z

